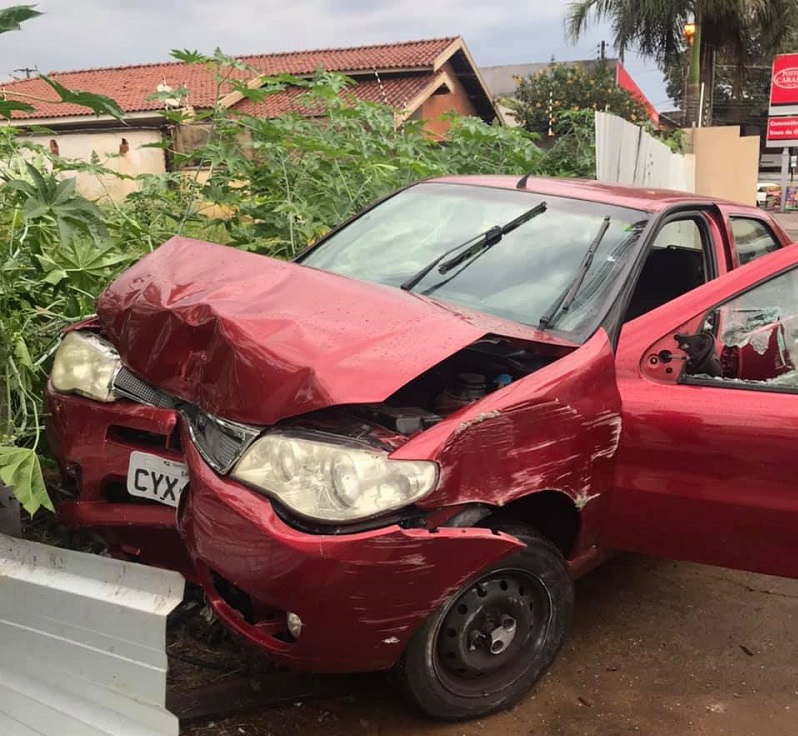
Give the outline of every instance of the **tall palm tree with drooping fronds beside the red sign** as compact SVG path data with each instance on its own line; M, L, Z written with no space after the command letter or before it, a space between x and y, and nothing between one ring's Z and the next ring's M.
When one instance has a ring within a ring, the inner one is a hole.
M695 125L701 82L711 80L714 52L722 50L736 64L741 82L753 46L776 53L793 37L798 0L576 0L568 10L568 35L578 39L591 20L610 21L620 52L637 48L663 67L684 52L689 38L685 112L687 124Z

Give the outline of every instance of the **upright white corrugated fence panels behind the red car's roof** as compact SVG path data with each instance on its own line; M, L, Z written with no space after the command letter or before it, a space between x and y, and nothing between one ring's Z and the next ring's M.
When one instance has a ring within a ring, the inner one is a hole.
M692 158L673 153L639 125L617 115L596 113L596 178L599 181L694 192Z

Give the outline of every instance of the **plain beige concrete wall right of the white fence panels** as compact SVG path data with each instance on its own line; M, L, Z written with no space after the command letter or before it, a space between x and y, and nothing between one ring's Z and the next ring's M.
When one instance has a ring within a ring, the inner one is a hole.
M759 138L737 126L686 130L687 153L695 155L696 194L756 204Z

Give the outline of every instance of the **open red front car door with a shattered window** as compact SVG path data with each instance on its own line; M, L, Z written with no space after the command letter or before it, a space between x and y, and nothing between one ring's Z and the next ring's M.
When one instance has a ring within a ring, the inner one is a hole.
M603 546L798 577L798 246L627 324Z

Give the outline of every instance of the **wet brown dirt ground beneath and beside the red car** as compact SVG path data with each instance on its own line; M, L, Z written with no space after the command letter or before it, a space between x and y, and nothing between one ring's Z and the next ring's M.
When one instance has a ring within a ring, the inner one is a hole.
M711 532L709 532L711 533ZM182 736L796 736L798 581L623 555L577 584L559 659L514 709L440 724L382 676Z

